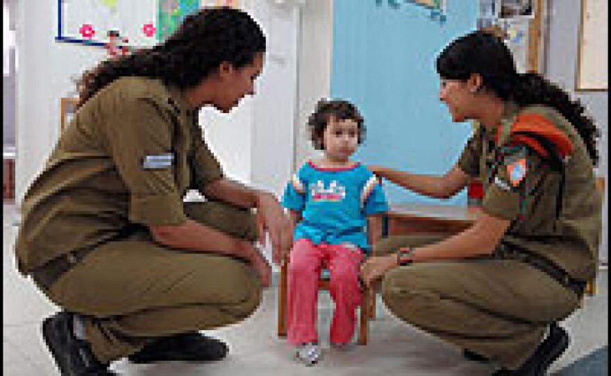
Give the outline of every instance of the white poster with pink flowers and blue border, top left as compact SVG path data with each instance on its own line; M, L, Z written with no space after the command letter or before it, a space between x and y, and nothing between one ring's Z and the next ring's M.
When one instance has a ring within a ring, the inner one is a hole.
M157 2L58 0L58 42L108 46L119 40L136 48L157 38Z

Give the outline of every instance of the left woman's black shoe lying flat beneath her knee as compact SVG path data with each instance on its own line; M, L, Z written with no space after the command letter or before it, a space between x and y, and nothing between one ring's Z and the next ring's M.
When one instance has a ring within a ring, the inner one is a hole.
M190 361L206 362L224 359L228 348L218 339L210 338L198 332L165 336L147 344L135 354L128 356L136 364L154 363L157 361Z

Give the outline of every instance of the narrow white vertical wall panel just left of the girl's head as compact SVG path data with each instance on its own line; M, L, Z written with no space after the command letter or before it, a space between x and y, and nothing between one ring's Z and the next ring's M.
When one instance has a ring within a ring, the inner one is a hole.
M252 15L267 32L267 63L254 98L251 182L281 195L292 173L297 107L299 8L258 4Z

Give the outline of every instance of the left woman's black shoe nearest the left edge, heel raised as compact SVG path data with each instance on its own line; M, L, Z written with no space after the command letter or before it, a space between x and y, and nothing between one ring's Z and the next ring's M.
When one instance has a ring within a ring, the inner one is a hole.
M91 345L77 339L72 331L73 315L60 312L42 323L44 343L53 354L62 376L117 375L93 354Z

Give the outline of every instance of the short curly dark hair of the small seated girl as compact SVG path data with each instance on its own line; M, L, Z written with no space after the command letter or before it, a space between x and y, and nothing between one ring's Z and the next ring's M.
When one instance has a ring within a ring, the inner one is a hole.
M358 144L365 141L365 119L349 101L321 99L308 119L310 139L316 150L324 150L323 135L330 119L353 120L358 126Z

